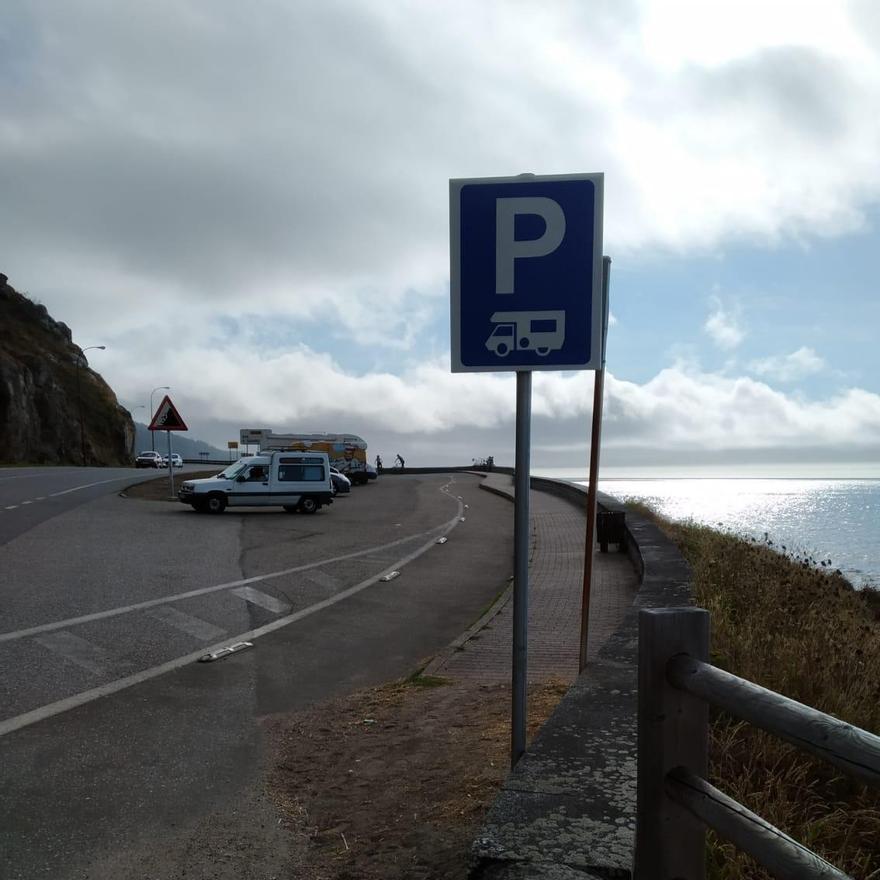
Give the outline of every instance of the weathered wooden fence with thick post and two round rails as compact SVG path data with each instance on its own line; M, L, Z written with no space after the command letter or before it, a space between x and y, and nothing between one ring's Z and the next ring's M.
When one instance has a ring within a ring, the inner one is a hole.
M713 828L784 880L846 878L710 785L709 703L880 787L880 737L710 665L709 613L639 612L635 880L702 880Z

